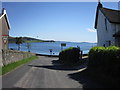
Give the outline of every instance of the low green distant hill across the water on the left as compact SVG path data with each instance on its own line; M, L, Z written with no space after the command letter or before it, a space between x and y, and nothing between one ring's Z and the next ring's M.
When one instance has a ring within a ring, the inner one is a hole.
M16 37L9 37L8 41L9 43L15 43L16 42ZM36 39L36 38L31 38L31 37L22 37L24 43L32 43L32 42L55 42L54 40L41 40L41 39Z

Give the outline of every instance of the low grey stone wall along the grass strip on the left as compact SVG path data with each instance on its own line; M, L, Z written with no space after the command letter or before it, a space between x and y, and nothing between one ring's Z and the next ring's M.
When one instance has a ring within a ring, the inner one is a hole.
M2 51L2 63L3 66L25 59L29 58L31 56L35 55L34 53L30 52L23 52L23 51L16 51L16 50L3 50Z

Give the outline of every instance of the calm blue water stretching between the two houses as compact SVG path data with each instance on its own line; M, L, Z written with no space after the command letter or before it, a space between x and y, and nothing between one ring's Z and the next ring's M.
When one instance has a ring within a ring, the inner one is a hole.
M49 49L53 50L54 55L58 55L61 51L61 43L66 43L66 47L63 47L63 49L66 49L68 47L77 47L79 46L81 50L83 50L83 53L86 54L89 52L89 49L91 47L96 46L96 43L75 43L75 42L36 42L31 43L31 49L30 51L33 53L39 53L39 54L50 54ZM17 45L14 43L9 44L9 48L13 48L17 50ZM28 51L26 43L21 44L21 51Z

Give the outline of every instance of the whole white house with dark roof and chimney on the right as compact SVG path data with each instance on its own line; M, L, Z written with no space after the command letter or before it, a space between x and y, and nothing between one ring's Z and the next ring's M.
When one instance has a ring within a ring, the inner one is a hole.
M99 2L95 29L97 29L98 46L120 46L120 10L104 8Z

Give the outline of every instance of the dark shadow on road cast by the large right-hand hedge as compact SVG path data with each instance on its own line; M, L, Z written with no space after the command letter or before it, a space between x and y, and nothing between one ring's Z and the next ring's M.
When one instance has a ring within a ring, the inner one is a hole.
M74 79L75 81L78 81L80 84L83 85L83 90L88 90L91 88L96 89L103 89L107 88L106 86L102 85L101 83L97 82L95 78L91 77L89 75L89 72L87 69L77 72L77 73L71 73L68 74L68 77L71 79Z

